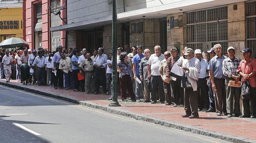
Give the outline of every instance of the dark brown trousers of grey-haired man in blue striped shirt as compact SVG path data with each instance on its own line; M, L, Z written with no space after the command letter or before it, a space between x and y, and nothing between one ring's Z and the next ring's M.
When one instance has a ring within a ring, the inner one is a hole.
M214 79L214 83L216 85L215 91L215 106L216 110L220 113L227 112L227 104L226 104L226 90L225 90L225 81L224 79Z

